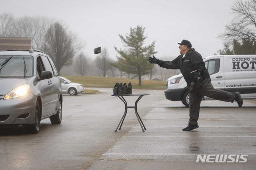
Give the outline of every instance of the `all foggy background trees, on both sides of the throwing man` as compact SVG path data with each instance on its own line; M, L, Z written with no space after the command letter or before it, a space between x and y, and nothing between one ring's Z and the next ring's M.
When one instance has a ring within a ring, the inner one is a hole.
M218 38L224 48L215 54L256 54L256 0L238 0L230 8L234 18L225 26ZM54 19L37 16L14 17L12 14L0 14L0 36L28 37L31 46L48 54L56 69L61 73L63 67L74 67L74 75L92 75L166 80L179 73L177 70L163 69L148 63L148 57L157 53L155 42L145 44L143 26L130 28L126 35L120 35L122 47L115 47L119 54L112 59L108 49L102 48L96 59L91 59L84 51L86 47L78 35L68 26ZM118 34L118 33L117 33ZM171 60L168 57L166 60ZM71 73L69 73L71 74Z

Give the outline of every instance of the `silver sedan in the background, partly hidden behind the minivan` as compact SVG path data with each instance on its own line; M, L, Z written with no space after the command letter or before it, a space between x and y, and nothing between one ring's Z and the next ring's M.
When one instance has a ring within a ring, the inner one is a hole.
M65 77L60 77L61 91L62 93L68 93L70 95L77 95L77 93L84 93L84 86L78 83L73 83Z

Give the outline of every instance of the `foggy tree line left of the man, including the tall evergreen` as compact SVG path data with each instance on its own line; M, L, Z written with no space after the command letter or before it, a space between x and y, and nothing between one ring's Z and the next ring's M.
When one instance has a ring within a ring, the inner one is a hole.
M148 57L156 51L155 42L145 45L145 29L143 26L136 26L130 28L130 33L126 36L119 35L128 48L115 47L120 54L116 60L109 56L106 48L102 48L101 53L92 60L84 53L86 47L82 40L65 24L42 16L17 18L10 13L0 14L0 36L31 38L31 47L48 54L58 72L61 73L63 67L72 66L73 73L69 74L126 77L139 79L140 84L142 76L144 79L166 80L178 73L148 63Z

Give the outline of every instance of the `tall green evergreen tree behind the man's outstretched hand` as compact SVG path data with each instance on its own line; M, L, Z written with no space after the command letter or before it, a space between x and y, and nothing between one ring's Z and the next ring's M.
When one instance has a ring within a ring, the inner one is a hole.
M126 34L125 37L119 34L124 46L128 47L128 51L115 47L120 56L117 56L117 61L113 63L120 71L138 75L139 85L141 85L141 76L148 74L154 67L148 62L148 57L157 53L154 51L155 41L148 46L144 45L147 38L144 32L145 27L136 26L130 28L130 34Z

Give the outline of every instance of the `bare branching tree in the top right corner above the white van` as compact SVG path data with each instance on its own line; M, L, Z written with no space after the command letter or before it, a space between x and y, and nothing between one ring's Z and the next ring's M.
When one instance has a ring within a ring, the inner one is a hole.
M232 45L233 40L256 43L256 0L238 0L231 6L231 11L235 17L226 25L226 31L219 38L228 45Z

